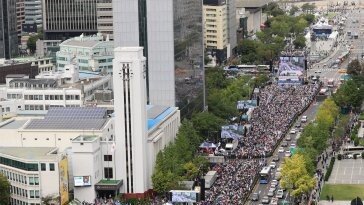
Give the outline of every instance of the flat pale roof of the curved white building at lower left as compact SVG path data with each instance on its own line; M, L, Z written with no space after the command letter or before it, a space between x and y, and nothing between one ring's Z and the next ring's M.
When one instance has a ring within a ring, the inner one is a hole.
M0 153L24 160L52 160L57 157L55 147L0 147Z

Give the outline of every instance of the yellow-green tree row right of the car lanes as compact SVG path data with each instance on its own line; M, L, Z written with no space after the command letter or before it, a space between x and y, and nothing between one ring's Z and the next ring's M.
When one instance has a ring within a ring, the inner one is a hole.
M316 170L317 157L327 148L339 108L328 98L319 107L316 120L310 122L297 140L297 152L285 159L282 167L281 186L290 190L295 198L308 195L315 187L313 177Z

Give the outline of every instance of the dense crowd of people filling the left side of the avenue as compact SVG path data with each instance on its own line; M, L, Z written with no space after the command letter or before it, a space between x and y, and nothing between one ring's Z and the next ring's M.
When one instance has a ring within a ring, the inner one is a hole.
M236 158L227 159L213 168L218 172L218 179L199 204L243 204L254 187L258 172L265 165L265 156L274 151L280 137L313 101L318 89L318 84L263 88L259 94L259 106L254 109L249 122L250 131L240 139L234 151Z

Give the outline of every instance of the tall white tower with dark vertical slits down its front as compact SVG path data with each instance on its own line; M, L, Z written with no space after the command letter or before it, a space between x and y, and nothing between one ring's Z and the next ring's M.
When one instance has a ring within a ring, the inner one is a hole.
M116 179L123 193L144 193L150 187L147 169L146 58L141 47L114 50L114 114Z

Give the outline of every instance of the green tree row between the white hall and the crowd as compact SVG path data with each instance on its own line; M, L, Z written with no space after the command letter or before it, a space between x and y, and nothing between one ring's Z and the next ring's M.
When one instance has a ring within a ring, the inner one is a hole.
M195 179L200 170L206 172L207 160L196 155L199 145L207 138L219 137L221 126L227 123L226 119L238 114L237 100L247 99L254 86L260 86L267 80L265 75L227 79L221 68L207 70L209 111L195 113L191 119L185 119L175 142L158 153L152 176L154 191L164 194L171 189L178 189L179 181Z

